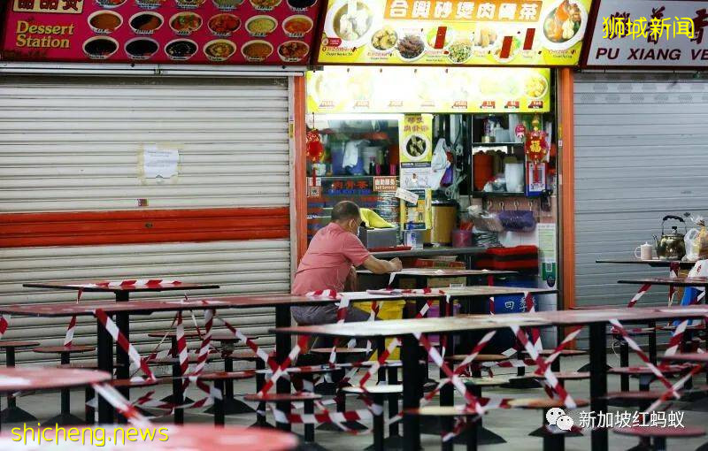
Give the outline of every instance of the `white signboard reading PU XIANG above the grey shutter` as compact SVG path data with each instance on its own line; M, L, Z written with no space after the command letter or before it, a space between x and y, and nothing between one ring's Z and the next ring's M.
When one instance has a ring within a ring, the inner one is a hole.
M708 67L708 2L602 0L584 65Z

